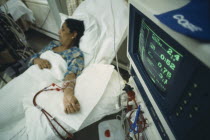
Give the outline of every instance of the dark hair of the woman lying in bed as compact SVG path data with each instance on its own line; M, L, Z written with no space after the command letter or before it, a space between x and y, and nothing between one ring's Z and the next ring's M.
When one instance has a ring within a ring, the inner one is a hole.
M79 47L79 40L83 36L84 31L85 31L83 21L68 18L65 20L65 23L66 23L67 27L70 29L71 33L77 32L77 36L75 38L74 45Z

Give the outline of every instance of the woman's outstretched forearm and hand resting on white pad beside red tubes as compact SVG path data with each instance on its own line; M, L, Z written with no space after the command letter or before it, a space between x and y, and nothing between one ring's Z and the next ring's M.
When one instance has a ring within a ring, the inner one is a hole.
M76 84L76 75L74 73L70 73L65 76L64 79L64 111L69 113L75 113L80 110L80 104L77 98L74 96L74 87Z

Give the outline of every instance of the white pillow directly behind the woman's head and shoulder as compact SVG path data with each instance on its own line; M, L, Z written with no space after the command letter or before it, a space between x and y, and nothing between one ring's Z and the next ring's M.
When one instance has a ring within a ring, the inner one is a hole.
M100 30L98 23L95 18L87 13L81 13L74 17L67 16L60 13L62 24L67 18L77 19L84 21L85 32L80 39L79 48L84 54L85 67L94 62L95 59L95 48L98 45L98 36Z

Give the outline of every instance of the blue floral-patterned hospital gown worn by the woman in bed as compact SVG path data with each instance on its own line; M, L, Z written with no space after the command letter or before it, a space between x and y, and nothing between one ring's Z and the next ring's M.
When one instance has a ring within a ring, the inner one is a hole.
M61 44L56 41L51 41L47 47L45 47L39 53L36 53L31 57L31 60L29 61L29 66L33 65L32 63L33 59L39 57L45 51L52 50L53 48L58 47L59 45ZM54 53L60 54L62 58L67 62L68 68L64 77L70 73L74 73L76 74L76 76L79 76L81 74L84 68L84 56L79 48L75 46L63 52L54 52Z

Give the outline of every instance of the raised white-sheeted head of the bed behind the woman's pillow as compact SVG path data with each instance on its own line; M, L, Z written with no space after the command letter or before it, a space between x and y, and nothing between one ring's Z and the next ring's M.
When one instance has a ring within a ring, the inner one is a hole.
M128 6L125 0L85 0L73 13L94 16L100 34L94 63L110 64L127 35Z

